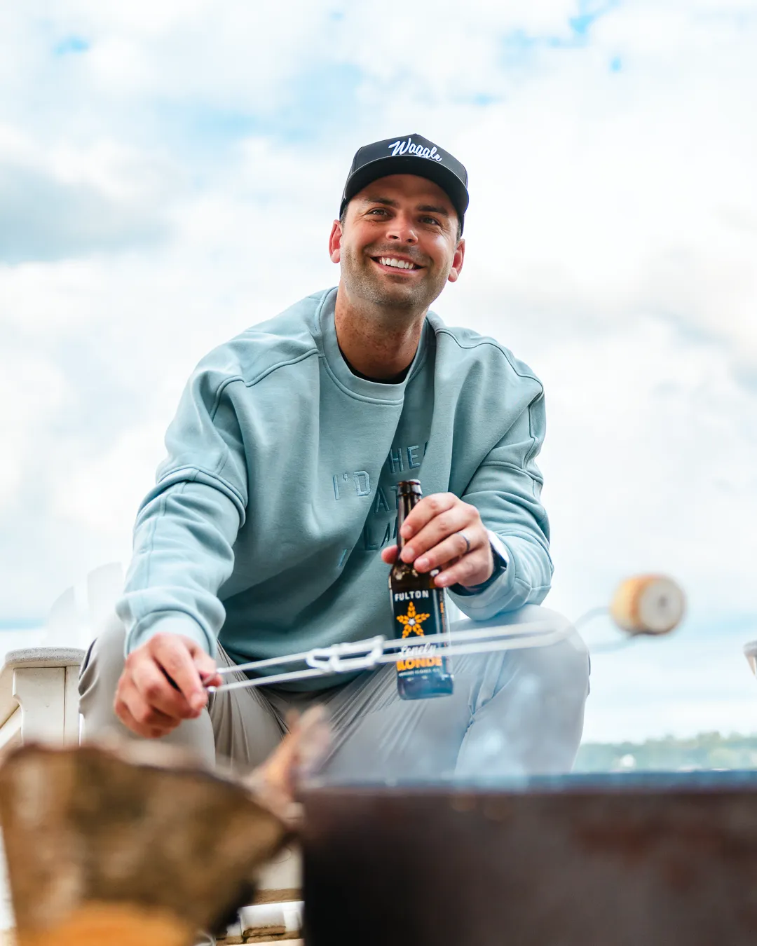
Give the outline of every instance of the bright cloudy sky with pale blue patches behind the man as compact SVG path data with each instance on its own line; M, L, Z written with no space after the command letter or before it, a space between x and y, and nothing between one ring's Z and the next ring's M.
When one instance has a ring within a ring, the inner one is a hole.
M546 386L547 604L688 593L598 650L587 738L757 732L757 0L28 0L0 37L0 638L127 560L194 364L337 281L353 152L418 131L470 176L436 310Z

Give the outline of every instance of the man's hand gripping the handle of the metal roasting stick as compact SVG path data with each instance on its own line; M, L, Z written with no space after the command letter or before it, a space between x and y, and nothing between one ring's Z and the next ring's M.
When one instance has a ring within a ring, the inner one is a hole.
M156 634L126 658L115 690L115 714L132 732L158 739L207 704L205 687L220 686L216 663L200 644Z

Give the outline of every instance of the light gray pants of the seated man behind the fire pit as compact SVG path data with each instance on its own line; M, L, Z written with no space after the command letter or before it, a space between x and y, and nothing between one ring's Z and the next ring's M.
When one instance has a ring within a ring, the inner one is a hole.
M282 738L288 710L322 703L334 735L326 778L491 779L567 772L589 692L588 651L571 625L555 611L529 604L494 621L455 622L451 629L519 621L549 622L566 637L546 647L453 657L454 693L437 699L399 699L392 665L326 691L263 687L215 693L200 718L185 720L164 741L194 750L211 765L218 758L244 772ZM81 669L86 738L113 729L138 738L113 709L123 650L124 628L114 615ZM232 665L222 650L219 663Z

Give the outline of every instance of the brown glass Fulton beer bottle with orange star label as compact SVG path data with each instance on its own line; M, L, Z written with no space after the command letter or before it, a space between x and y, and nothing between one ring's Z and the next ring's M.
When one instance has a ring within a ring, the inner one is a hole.
M399 534L402 523L422 496L417 480L397 484L397 556L389 573L395 634L402 639L429 639L427 644L403 647L400 652L401 657L396 663L396 686L403 700L423 700L452 692L449 657L444 657L448 646L444 588L433 584L441 569L419 574L412 564L399 557L405 545Z

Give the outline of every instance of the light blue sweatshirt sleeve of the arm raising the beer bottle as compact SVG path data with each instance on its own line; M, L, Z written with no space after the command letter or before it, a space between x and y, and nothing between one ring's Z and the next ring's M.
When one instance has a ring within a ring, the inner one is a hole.
M489 451L463 496L481 513L484 526L507 551L507 568L480 592L450 590L468 618L486 621L547 596L554 567L549 520L541 505L542 476L536 458L544 441L544 394L519 412L502 440Z

